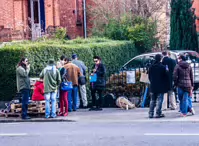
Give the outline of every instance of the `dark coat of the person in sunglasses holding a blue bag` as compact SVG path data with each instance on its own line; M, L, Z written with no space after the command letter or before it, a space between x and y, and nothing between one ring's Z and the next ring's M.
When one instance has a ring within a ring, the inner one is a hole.
M95 69L95 65L93 66L93 69ZM103 64L99 64L95 73L97 74L97 81L91 83L91 89L103 90L106 85L106 80L105 80L106 68L105 68L105 66Z

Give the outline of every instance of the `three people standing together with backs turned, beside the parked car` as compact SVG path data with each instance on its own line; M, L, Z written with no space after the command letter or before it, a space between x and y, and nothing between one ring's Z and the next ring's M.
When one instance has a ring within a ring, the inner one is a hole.
M181 116L186 116L188 112L195 114L192 107L192 91L193 91L193 72L191 65L186 62L186 56L180 54L178 56L178 64L170 58L169 52L164 51L162 54L155 56L155 62L149 68L149 80L151 89L151 101L149 108L149 118L154 117L154 109L156 107L156 118L165 117L162 114L164 96L169 96L171 109L177 109L174 90L177 90L179 104L179 112ZM157 106L156 106L157 103Z

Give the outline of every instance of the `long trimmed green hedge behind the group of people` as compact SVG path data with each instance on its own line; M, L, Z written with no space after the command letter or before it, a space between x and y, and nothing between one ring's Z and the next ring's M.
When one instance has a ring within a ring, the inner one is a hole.
M93 56L99 55L107 68L119 69L137 54L133 42L112 41L103 38L76 39L70 41L42 40L23 42L0 48L0 101L10 100L16 93L16 65L21 57L28 57L31 75L38 74L46 66L49 58L59 60L62 54L71 57L77 53L88 67L93 64Z

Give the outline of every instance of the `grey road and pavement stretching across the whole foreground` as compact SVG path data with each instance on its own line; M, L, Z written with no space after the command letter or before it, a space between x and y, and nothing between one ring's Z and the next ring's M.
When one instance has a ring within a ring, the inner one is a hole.
M0 123L0 143L2 146L199 146L198 105L194 104L196 115L187 117L180 117L178 110L168 110L164 112L165 118L149 119L147 108L127 111L107 108L92 112L82 109L68 117L58 117L57 121L33 118L28 122L4 122Z

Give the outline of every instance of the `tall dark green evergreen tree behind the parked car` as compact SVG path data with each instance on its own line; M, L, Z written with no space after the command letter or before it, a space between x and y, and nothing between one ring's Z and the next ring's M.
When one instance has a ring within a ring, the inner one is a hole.
M192 0L171 0L170 49L196 50L198 48L195 15Z

